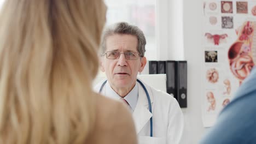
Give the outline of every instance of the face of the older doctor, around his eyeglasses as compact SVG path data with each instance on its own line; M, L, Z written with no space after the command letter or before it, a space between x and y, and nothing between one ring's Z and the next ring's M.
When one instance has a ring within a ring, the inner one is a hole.
M101 70L106 73L110 86L116 89L131 90L136 83L137 74L144 69L146 57L135 60L126 59L123 52L137 52L137 37L128 34L114 34L106 39L106 52L121 52L118 59L101 58Z

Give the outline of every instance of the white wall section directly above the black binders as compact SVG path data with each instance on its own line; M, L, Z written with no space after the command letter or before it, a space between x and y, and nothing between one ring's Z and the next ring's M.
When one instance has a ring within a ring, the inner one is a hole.
M156 0L157 60L184 60L182 0Z

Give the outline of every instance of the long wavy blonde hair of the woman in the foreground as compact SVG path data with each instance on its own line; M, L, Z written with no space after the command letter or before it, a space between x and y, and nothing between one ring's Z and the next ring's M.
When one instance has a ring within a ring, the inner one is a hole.
M102 0L5 0L0 143L83 143L94 127Z

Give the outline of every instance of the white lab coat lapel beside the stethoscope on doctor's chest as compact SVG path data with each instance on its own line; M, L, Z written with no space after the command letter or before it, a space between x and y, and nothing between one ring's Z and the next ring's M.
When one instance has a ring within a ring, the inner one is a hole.
M144 84L145 85L145 84ZM153 103L153 97L151 89L145 85L147 88L151 104ZM132 113L133 120L136 126L136 133L138 134L139 131L147 124L150 118L153 116L152 113L148 110L148 98L147 95L142 88L142 86L138 83L138 101L135 107L135 110Z

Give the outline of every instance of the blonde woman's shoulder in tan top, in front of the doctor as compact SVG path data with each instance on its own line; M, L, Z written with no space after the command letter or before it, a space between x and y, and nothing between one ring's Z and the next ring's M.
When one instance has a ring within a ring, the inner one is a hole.
M137 143L131 112L123 103L97 94L96 107L99 135L108 137L112 143Z

